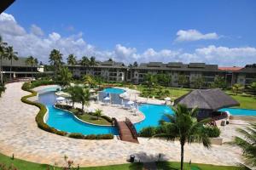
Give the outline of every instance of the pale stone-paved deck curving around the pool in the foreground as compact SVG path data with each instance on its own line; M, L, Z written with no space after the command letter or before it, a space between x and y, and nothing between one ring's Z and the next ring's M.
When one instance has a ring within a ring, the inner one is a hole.
M160 139L138 138L139 144L112 140L71 139L38 128L35 116L38 108L26 105L20 98L29 94L21 90L22 82L7 84L6 92L0 98L0 152L16 158L38 163L64 164L64 156L73 160L74 165L101 166L126 163L131 154L140 161L179 161L180 145ZM222 129L224 141L237 135L236 127L230 124ZM184 161L216 165L236 165L241 162L241 150L228 144L212 145L207 150L201 144L185 145Z

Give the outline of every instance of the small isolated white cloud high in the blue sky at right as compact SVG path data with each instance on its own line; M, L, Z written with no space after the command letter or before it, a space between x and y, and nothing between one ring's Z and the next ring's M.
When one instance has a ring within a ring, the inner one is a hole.
M177 38L175 39L176 42L191 42L191 41L198 41L198 40L209 40L209 39L218 39L218 34L215 32L202 34L200 31L197 30L179 30L177 31Z

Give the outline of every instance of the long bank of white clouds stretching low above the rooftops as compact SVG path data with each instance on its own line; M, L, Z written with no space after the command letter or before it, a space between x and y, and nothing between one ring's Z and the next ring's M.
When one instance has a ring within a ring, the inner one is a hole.
M61 37L58 32L44 35L44 31L39 26L32 25L31 32L28 33L16 22L13 15L5 13L0 15L0 35L4 42L14 46L20 56L32 55L44 63L48 62L49 53L53 48L61 50L64 59L68 54L75 54L79 58L84 55L93 55L99 60L113 58L125 62L125 64L134 61L139 63L148 61L207 62L241 66L256 63L256 48L253 47L227 48L211 45L205 48L195 48L191 53L183 50L148 48L139 53L137 48L116 44L113 50L102 50L86 42L82 32L69 37ZM209 37L211 36L207 36L207 38Z

